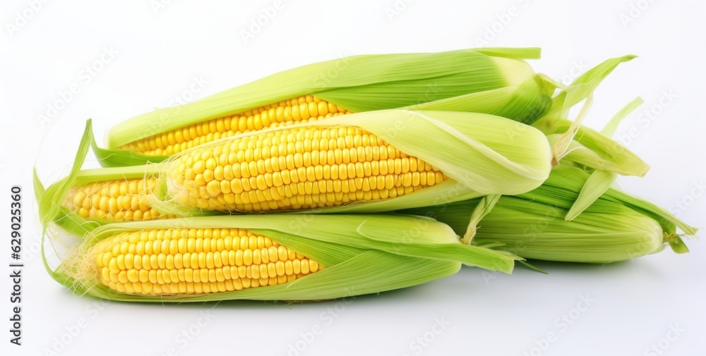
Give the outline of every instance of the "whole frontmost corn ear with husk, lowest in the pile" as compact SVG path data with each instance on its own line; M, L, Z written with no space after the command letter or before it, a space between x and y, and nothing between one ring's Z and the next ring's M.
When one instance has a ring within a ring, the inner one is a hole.
M415 286L461 264L509 273L515 259L414 216L212 216L95 228L47 270L111 300L323 300Z

